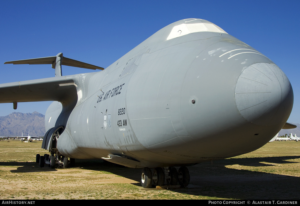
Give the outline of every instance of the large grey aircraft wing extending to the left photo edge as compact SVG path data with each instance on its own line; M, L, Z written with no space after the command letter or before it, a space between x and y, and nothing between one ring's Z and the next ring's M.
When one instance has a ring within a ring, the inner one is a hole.
M0 84L0 103L13 103L14 109L17 102L73 103L77 101L77 91L72 77L50 77Z

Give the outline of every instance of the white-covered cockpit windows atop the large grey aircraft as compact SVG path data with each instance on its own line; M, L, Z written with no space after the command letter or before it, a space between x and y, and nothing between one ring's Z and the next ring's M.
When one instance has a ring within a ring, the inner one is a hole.
M170 32L167 40L174 39L179 36L184 36L189 33L202 32L202 31L210 31L210 32L218 32L218 33L226 33L223 29L214 25L211 22L202 22L195 24L181 24L173 27Z

